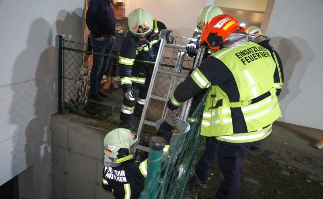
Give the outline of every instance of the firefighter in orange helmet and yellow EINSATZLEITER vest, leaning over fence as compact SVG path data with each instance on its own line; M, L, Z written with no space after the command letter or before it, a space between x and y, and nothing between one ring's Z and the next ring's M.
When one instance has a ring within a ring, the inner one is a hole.
M200 134L209 137L194 171L196 186L206 185L214 161L221 172L217 199L234 199L240 187L241 168L249 146L263 142L281 117L274 87L275 61L270 52L249 42L238 21L226 14L212 18L201 33L200 47L211 48L208 56L167 102L166 115L202 89L209 88Z

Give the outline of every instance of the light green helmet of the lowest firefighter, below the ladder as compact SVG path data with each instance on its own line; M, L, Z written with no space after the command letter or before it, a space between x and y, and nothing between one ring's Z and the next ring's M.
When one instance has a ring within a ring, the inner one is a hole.
M136 144L138 136L126 128L117 128L104 137L104 153L113 159L131 155L130 147Z

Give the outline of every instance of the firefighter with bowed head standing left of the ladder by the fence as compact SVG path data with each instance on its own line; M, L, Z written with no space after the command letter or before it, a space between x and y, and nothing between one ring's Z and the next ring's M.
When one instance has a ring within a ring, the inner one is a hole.
M156 61L161 38L159 31L166 29L161 21L154 20L144 8L133 10L128 17L129 31L122 41L119 56L119 73L124 99L120 113L120 125L134 129L134 113L141 116L154 64L135 62L137 60ZM172 42L168 31L166 38Z

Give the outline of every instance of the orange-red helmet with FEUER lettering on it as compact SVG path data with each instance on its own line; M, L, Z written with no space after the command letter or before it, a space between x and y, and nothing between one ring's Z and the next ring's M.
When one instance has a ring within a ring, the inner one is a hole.
M200 47L219 49L227 37L236 29L245 31L245 28L232 16L220 14L213 17L203 28Z

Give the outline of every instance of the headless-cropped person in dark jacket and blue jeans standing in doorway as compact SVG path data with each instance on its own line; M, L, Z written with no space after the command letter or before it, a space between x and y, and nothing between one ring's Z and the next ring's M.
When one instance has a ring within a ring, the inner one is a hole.
M90 39L93 52L111 55L116 38L113 0L91 0L86 12L86 25L91 31ZM104 101L108 95L100 92L101 81L107 70L110 57L93 55L90 74L90 99Z

